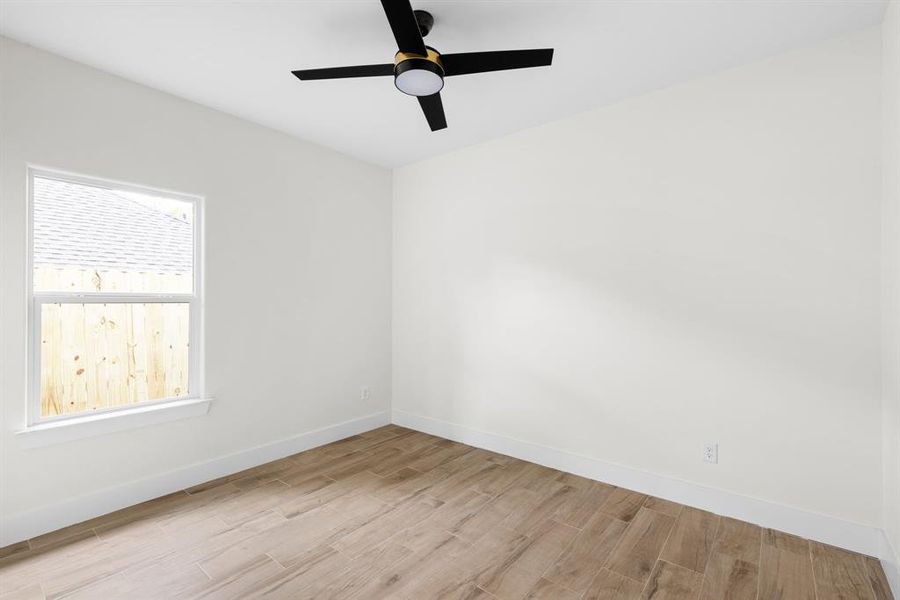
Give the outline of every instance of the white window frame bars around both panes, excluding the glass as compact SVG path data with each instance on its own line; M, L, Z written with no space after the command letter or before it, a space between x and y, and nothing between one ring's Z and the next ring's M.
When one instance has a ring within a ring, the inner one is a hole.
M28 230L26 290L28 294L28 410L27 428L40 429L41 426L84 423L91 417L107 418L111 413L130 414L143 412L148 407L165 408L167 405L181 407L185 401L203 398L203 203L202 196L173 192L143 185L123 183L87 175L79 175L57 169L29 165L27 168ZM34 178L55 179L112 191L137 192L181 202L190 202L194 207L193 216L193 281L190 294L124 293L124 292L35 292L34 291ZM189 305L188 335L188 395L148 400L136 404L115 406L71 415L41 416L41 306L56 303L181 303ZM205 411L204 411L205 412ZM118 415L116 415L118 416Z

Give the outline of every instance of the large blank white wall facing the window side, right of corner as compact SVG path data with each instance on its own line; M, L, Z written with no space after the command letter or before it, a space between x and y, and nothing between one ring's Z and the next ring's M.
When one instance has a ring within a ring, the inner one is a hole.
M880 527L880 52L396 170L394 409Z

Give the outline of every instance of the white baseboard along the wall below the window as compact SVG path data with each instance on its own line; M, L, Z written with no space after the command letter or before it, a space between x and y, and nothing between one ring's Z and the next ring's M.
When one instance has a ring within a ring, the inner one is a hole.
M0 548L390 423L380 412L0 518Z

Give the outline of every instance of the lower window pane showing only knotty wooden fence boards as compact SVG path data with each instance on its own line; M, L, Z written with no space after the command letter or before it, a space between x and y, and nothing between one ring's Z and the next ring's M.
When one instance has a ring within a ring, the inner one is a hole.
M41 305L41 417L188 394L186 303Z

